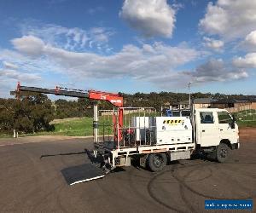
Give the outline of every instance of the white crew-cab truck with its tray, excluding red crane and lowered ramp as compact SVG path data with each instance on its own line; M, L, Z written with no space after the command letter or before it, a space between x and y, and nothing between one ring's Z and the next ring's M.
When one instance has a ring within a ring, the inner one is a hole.
M168 160L189 159L194 153L206 153L222 163L240 147L238 126L229 112L217 108L191 112L190 117L128 115L127 124L113 133L118 137L120 131L121 139L96 141L94 156L102 156L110 169L130 166L132 158L139 158L141 166L159 171Z

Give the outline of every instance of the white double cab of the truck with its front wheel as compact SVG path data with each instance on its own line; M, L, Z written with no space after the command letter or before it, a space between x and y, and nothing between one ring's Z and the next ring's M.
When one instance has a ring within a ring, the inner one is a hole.
M239 148L238 126L224 109L195 109L194 129L197 149L219 162L224 162L230 149Z

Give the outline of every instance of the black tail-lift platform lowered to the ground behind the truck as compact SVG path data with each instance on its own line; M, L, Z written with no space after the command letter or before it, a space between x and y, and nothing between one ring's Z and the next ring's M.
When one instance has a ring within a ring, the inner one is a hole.
M68 185L84 181L92 181L106 176L106 173L96 164L81 164L61 170Z

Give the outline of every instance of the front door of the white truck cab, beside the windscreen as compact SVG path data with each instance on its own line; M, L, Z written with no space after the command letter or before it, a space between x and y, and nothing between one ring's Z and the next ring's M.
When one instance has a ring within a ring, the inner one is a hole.
M221 111L218 113L218 130L220 140L228 139L231 143L237 142L237 126L231 129L232 118L228 112Z

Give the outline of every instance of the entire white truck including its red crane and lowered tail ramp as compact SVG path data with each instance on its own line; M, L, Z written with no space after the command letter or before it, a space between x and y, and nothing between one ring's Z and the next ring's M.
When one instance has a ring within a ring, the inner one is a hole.
M64 95L87 98L93 101L94 145L88 152L92 161L98 164L82 164L61 170L70 185L78 182L102 178L106 172L116 167L131 165L131 158L139 158L142 166L159 171L167 160L189 159L193 153L207 153L210 158L224 162L230 150L239 148L238 127L235 118L224 109L194 109L191 115L182 117L158 117L153 108L123 107L123 97L119 94L96 90L67 89L55 87L44 89L17 84L11 95L20 96L22 92ZM99 122L97 101L108 101L113 110ZM112 116L111 116L112 115ZM102 127L99 128L99 126ZM102 134L100 132L102 130ZM93 153L93 155L91 155ZM94 159L94 160L93 160Z

